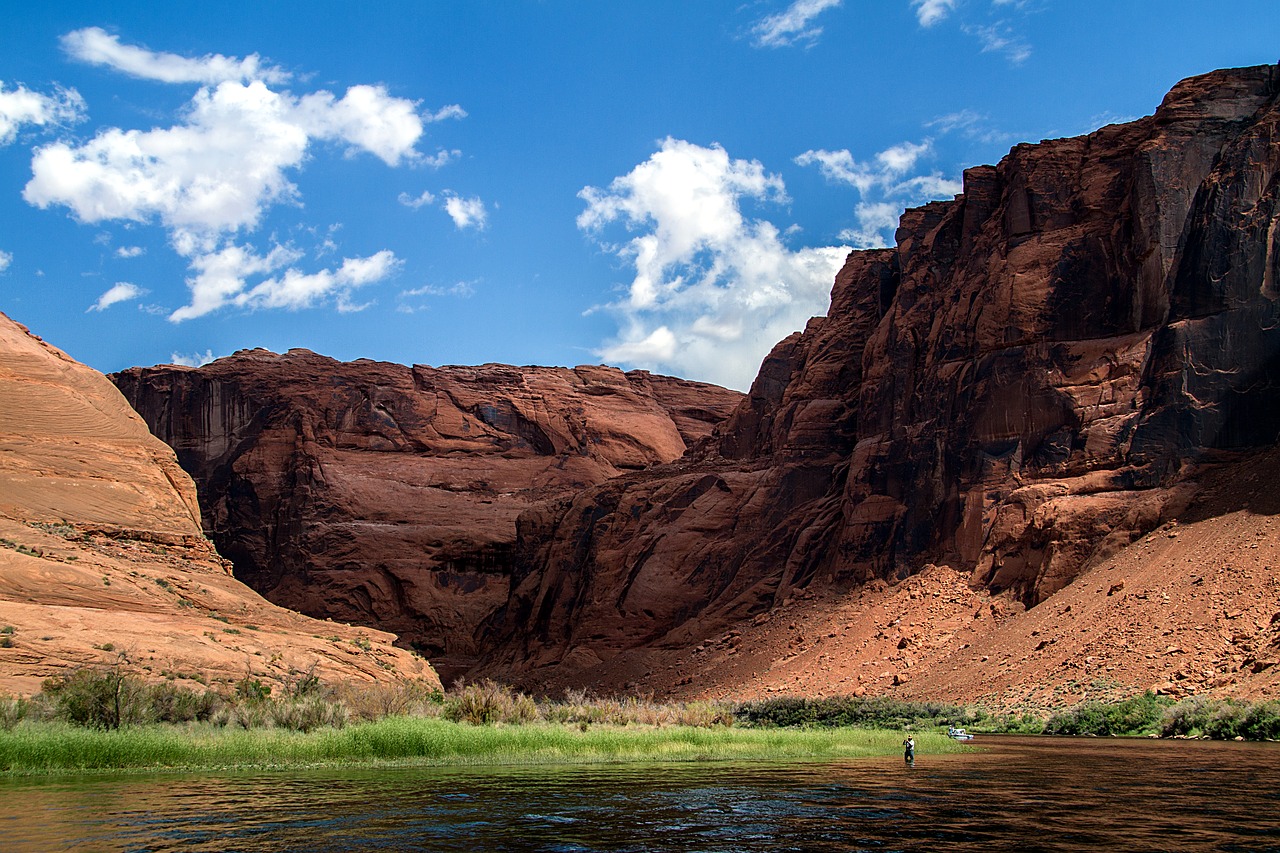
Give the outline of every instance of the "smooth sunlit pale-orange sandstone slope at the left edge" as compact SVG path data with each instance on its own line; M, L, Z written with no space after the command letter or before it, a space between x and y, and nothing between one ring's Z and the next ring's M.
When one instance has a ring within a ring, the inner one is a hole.
M196 487L100 373L0 314L0 692L122 662L159 679L419 678L378 630L319 622L230 576Z

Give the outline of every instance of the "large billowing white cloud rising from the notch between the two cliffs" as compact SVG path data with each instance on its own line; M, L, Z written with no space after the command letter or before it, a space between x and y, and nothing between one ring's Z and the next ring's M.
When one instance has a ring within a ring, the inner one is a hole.
M634 272L605 306L620 333L605 361L746 388L769 348L826 310L842 246L790 250L744 202L785 202L786 187L755 160L667 138L607 188L586 187L579 228ZM604 231L625 228L613 242Z

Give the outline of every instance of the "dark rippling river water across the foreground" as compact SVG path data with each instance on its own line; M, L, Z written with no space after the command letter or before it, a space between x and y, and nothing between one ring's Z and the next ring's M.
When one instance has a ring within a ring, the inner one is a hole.
M0 850L1276 850L1280 744L0 781Z

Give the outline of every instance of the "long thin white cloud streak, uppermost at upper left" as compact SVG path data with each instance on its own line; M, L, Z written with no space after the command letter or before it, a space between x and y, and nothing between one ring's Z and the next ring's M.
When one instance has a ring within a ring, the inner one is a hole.
M236 59L221 54L209 54L189 59L177 54L165 54L122 45L100 27L76 29L61 38L63 50L72 58L92 65L106 65L131 77L155 79L163 83L221 83L224 81L255 81L283 83L291 74L264 65L257 54Z

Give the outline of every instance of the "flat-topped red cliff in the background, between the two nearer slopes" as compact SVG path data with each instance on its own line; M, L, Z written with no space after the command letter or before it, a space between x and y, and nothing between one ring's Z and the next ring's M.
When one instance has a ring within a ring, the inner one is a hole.
M581 366L239 352L113 380L200 485L237 578L397 631L448 679L509 597L516 519L705 438L737 392Z

